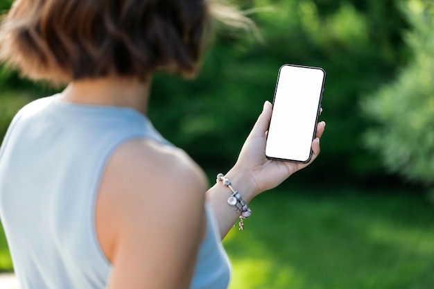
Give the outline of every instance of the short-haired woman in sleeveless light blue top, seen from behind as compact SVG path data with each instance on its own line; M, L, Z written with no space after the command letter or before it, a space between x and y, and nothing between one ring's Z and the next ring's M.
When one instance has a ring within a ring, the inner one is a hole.
M266 159L266 102L235 166L207 190L202 170L146 118L153 73L196 71L217 4L13 3L2 59L68 83L26 105L1 146L0 217L21 288L227 288L221 238L237 218L243 226L252 198L307 164Z

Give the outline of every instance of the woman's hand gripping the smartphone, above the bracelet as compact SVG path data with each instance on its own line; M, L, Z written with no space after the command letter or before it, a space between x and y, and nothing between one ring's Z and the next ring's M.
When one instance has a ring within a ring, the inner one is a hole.
M297 170L301 170L312 163L320 153L320 138L324 132L325 122L317 124L315 139L312 141L313 154L311 161L306 164L277 161L266 158L266 134L271 119L272 105L267 100L263 105L263 111L254 128L246 139L241 149L238 160L233 168L238 172L242 170L252 178L254 183L254 195L275 188Z

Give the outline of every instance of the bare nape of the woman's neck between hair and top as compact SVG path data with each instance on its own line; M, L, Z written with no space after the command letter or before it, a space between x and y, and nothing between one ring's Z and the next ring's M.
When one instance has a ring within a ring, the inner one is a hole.
M98 78L69 83L62 91L62 99L83 105L130 107L142 114L148 109L150 80L134 78Z

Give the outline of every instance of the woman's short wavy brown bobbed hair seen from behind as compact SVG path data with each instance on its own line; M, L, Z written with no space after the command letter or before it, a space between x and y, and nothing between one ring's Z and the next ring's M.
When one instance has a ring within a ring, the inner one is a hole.
M206 0L16 0L3 19L1 60L64 83L196 71Z

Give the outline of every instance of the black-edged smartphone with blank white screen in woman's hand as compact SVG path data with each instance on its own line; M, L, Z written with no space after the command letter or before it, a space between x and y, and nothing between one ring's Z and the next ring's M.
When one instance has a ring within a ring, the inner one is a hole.
M320 67L285 64L279 69L266 157L306 163L320 115L326 73Z

